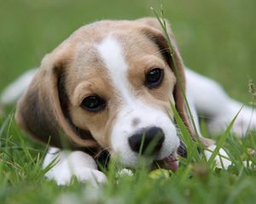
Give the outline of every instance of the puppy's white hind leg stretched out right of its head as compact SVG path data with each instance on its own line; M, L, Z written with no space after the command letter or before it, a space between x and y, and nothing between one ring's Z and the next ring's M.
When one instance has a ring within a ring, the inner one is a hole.
M188 92L193 97L196 110L207 118L210 133L223 132L241 107L232 131L244 136L247 130L256 130L256 112L252 107L230 99L217 82L194 71L187 69L186 77Z

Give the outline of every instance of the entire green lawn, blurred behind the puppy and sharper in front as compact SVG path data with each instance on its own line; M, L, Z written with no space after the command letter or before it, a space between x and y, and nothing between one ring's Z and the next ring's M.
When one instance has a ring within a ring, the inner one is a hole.
M252 101L248 81L256 81L256 2L253 0L163 1L185 64L216 79L245 104ZM22 72L37 67L44 54L74 30L94 20L136 19L154 15L160 1L0 0L0 92ZM138 167L133 177L116 178L95 190L75 180L66 187L44 178L45 147L13 122L13 107L0 118L0 203L254 203L256 134L237 139L229 133L224 148L228 170L211 167L198 156L182 160L177 173L150 178ZM207 130L204 131L207 137ZM215 137L224 138L225 135Z

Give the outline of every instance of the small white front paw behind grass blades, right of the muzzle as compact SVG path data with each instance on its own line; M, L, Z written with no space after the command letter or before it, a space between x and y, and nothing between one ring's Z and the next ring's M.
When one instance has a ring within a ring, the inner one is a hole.
M212 151L215 150L215 148L216 145L213 144L207 148L208 150L205 150L205 156L207 156L207 160L210 159L212 156ZM227 152L220 148L220 150L218 150L218 155L214 158L216 167L227 169L232 164L228 158L229 156Z

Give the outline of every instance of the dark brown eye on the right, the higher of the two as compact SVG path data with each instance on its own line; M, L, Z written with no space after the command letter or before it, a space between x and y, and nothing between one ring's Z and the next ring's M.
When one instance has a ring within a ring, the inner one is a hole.
M145 85L148 88L158 88L160 83L163 81L164 71L160 68L155 68L151 71L148 71L146 75Z

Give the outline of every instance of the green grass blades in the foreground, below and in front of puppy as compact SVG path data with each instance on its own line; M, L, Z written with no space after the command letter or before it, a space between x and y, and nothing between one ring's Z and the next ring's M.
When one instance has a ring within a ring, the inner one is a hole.
M183 127L181 131L185 131ZM26 139L12 116L3 121L0 133L1 203L253 203L256 199L256 172L242 164L256 164L248 153L248 148L256 150L253 133L247 139L229 134L224 148L234 164L228 170L212 167L197 151L181 159L177 172L168 177L151 178L142 166L132 177L117 177L119 166L113 162L106 172L108 184L97 190L76 180L70 186L46 180L41 169L45 147Z

